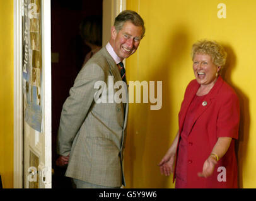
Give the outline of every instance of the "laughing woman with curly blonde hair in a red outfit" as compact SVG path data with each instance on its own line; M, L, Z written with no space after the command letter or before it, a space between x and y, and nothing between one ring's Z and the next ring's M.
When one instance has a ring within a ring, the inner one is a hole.
M192 60L195 80L185 90L178 133L159 163L161 173L174 171L176 188L237 188L240 107L219 75L226 52L215 41L199 41L192 46Z

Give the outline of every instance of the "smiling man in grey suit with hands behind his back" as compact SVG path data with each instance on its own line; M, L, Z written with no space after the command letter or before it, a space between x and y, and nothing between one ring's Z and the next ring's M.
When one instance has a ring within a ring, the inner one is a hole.
M115 18L109 43L81 69L63 105L57 164L67 164L66 177L73 178L77 188L125 185L122 160L128 101L97 103L95 83L105 82L109 97L110 91L117 91L113 88L116 82L126 82L125 74L120 75L120 63L136 52L144 33L141 16L122 11ZM109 77L113 84L108 83Z

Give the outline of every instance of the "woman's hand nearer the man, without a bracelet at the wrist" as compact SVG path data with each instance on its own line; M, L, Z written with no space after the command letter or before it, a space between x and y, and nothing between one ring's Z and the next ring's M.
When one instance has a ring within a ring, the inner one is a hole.
M173 173L174 160L175 160L175 154L166 153L166 155L163 157L163 159L158 164L158 166L160 166L160 171L161 171L162 175L170 176L170 172Z

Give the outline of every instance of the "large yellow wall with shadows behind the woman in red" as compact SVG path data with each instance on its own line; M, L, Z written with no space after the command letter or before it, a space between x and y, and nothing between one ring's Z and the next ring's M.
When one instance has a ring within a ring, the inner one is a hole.
M219 19L219 3L226 19ZM157 166L175 138L185 87L194 79L190 48L201 39L219 41L228 52L226 80L241 105L238 164L240 187L256 188L256 1L127 0L146 23L146 36L127 59L128 80L163 81L163 107L130 104L125 177L129 188L173 188Z

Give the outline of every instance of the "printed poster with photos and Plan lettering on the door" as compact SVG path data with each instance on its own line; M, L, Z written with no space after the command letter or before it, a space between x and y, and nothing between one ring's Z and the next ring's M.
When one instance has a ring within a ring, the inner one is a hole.
M23 0L23 106L24 119L42 133L41 1Z

